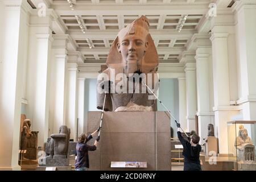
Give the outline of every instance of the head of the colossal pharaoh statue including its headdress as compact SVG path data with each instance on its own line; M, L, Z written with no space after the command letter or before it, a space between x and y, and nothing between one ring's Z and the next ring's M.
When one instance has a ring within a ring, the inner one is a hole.
M108 67L121 65L126 74L154 71L158 66L158 54L148 27L148 19L141 16L119 31L109 51Z

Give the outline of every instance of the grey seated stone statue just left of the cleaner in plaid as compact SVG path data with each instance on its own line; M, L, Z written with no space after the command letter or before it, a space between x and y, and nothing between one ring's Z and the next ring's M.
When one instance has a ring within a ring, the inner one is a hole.
M59 134L51 134L46 145L47 158L67 158L70 129L60 126Z

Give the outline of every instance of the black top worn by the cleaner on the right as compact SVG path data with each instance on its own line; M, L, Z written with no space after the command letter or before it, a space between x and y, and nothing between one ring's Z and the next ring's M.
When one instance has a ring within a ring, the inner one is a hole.
M183 145L183 152L182 155L184 155L184 163L197 163L200 164L200 152L201 152L201 146L200 144L197 144L195 147L191 146L191 143L189 143L187 140L185 140L182 136L180 131L177 132L177 136Z

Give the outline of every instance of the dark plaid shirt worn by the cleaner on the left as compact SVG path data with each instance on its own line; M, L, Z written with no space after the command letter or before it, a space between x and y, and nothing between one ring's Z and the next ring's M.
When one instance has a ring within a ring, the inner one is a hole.
M89 135L88 138L86 138L86 142L88 142L90 139L92 139L92 135ZM89 146L86 143L80 143L77 142L76 144L76 163L75 168L81 168L86 167L89 168L89 155L88 151L94 151L96 150L96 146Z

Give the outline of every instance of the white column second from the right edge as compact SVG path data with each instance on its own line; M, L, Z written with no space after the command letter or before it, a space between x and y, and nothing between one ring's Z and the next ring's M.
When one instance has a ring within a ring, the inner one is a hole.
M230 106L228 33L212 31L214 115L220 154L228 154L228 127L237 108Z

